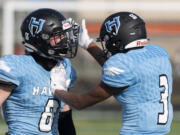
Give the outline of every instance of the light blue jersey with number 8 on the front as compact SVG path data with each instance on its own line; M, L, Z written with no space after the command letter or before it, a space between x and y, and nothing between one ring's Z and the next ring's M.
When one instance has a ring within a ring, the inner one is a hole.
M60 63L66 69L69 87L72 87L75 70L68 59ZM10 135L58 134L58 115L64 103L52 95L49 71L30 55L7 55L0 59L0 79L17 85L3 103Z

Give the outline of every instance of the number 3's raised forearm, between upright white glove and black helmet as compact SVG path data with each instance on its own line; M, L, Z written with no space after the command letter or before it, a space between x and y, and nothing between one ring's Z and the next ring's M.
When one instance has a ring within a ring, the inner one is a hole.
M95 58L95 60L101 65L104 65L104 62L106 61L104 57L104 53L94 42L91 42L91 44L88 46L87 51Z

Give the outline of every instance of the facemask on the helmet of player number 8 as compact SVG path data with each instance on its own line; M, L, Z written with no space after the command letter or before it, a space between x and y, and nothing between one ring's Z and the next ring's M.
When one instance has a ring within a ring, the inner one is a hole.
M49 38L48 55L55 58L74 58L78 49L79 26L64 32L54 32Z

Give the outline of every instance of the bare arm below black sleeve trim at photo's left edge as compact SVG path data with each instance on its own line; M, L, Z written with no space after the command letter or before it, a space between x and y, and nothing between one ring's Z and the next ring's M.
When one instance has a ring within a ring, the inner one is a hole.
M15 84L0 81L0 107L15 88Z

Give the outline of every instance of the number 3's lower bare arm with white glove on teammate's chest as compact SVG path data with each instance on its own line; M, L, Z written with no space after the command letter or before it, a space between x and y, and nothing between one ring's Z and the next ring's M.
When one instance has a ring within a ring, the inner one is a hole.
M109 98L110 96L117 94L120 91L127 88L127 87L113 88L106 85L103 82L100 82L100 84L96 88L86 93L72 93L72 92L67 92L65 76L66 76L66 72L64 72L63 70L60 70L58 72L58 75L57 73L54 75L53 78L56 78L54 79L54 82L52 81L53 84L52 88L54 89L54 95L60 100L64 101L66 104L76 109L83 109L88 106L99 103Z

